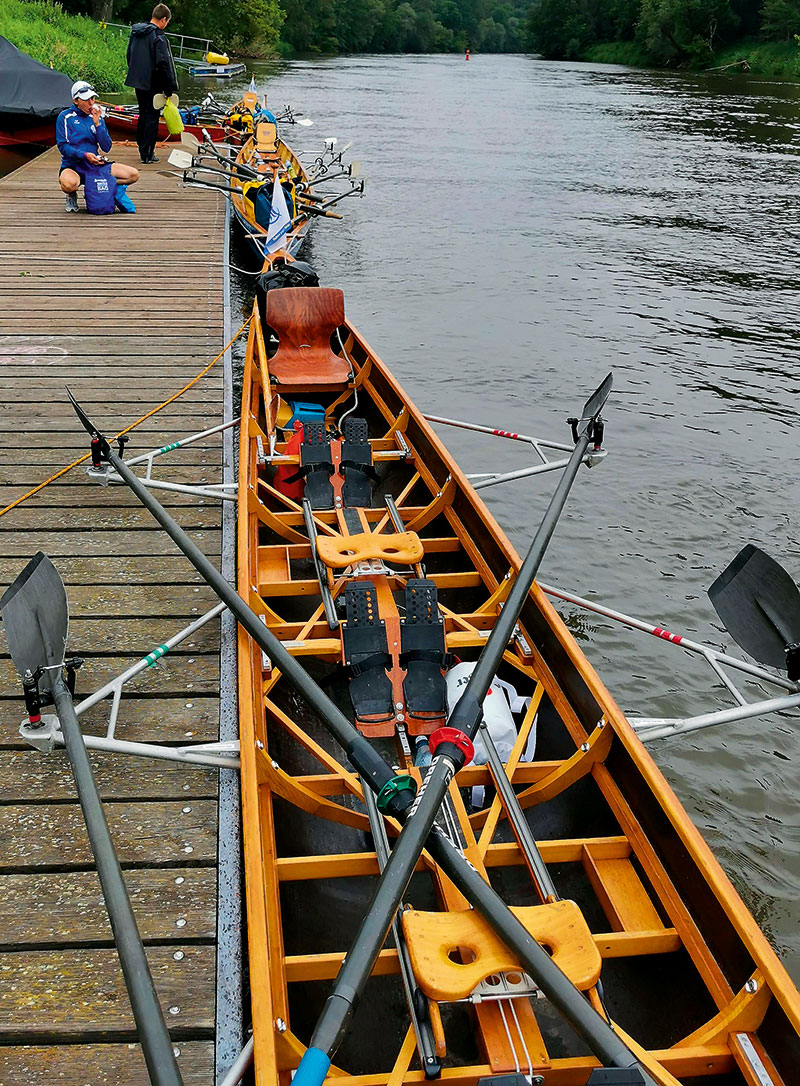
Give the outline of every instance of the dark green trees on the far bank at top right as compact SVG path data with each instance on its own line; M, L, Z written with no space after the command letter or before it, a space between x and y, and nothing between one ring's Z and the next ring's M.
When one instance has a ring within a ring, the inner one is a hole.
M703 65L742 38L800 35L800 0L534 0L528 28L531 48L550 60L631 42L646 63Z

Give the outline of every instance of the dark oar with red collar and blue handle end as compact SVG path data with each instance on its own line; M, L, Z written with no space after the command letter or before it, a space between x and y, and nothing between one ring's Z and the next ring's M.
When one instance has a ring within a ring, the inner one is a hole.
M467 687L447 722L447 728L431 736L433 762L424 779L409 817L392 849L381 874L378 888L358 930L353 947L342 962L333 992L329 996L295 1075L295 1086L319 1086L330 1060L339 1048L353 1015L355 1002L364 989L378 958L392 917L399 907L406 886L414 873L426 839L439 815L444 795L456 772L472 758L472 740L482 718L483 699L495 677L517 620L528 599L536 571L547 550L558 518L583 463L589 441L594 440L600 411L611 391L609 374L597 391L586 401L576 426L576 443L564 468L547 510L533 538L522 567L517 574L505 606L478 658ZM434 740L442 736L434 746ZM326 1063L327 1061L327 1063ZM321 1077L320 1077L321 1073Z

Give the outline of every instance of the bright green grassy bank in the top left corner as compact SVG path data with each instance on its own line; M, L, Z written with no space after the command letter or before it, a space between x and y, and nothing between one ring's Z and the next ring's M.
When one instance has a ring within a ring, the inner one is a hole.
M48 0L0 0L0 34L34 60L88 79L101 92L124 89L125 39Z

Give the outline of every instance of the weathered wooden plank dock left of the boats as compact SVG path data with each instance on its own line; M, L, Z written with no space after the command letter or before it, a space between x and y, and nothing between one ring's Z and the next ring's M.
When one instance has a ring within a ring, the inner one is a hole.
M136 149L114 154L137 162ZM65 384L111 435L225 343L224 201L180 188L161 156L130 190L136 215L66 214L55 149L0 181L0 508L87 452ZM126 456L219 424L224 383L220 361L134 431ZM221 460L215 435L162 457L160 473L219 481ZM86 660L77 702L216 604L136 498L85 467L0 516L0 585L39 550L64 579L67 651ZM219 560L219 503L158 496ZM0 648L0 1083L139 1086L148 1076L68 766L21 740L18 677L4 637ZM117 737L216 741L219 683L215 619L126 686ZM103 734L107 709L82 717L85 731ZM209 1086L219 774L92 761L183 1081Z

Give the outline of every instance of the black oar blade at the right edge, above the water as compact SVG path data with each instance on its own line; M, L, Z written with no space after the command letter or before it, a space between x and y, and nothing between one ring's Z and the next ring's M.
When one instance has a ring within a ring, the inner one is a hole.
M783 566L748 543L711 585L709 598L746 653L786 670L786 648L800 641L800 592Z

